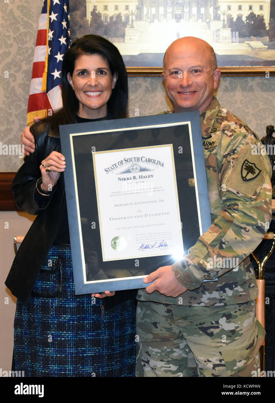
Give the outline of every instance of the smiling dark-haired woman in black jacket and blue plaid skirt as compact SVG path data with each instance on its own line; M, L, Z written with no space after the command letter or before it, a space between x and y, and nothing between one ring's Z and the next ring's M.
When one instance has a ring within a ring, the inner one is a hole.
M58 130L60 124L125 118L126 69L111 42L85 35L64 55L61 83L63 108L31 127L35 152L12 184L19 209L37 214L6 280L18 298L14 370L25 376L134 376L134 290L74 295Z

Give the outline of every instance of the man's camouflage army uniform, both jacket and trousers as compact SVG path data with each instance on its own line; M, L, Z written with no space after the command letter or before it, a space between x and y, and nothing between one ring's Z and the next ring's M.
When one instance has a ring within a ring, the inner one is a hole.
M191 376L192 367L198 376L251 376L258 366L264 330L249 254L271 220L271 165L254 155L255 133L215 97L201 129L212 225L172 266L185 293L138 292L137 376Z

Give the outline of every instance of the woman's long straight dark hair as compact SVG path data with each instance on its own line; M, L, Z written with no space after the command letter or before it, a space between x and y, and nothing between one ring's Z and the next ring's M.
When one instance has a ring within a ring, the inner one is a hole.
M63 107L50 120L52 126L74 123L74 117L79 110L79 101L75 96L67 75L74 71L75 61L83 54L98 54L107 60L112 76L117 75L116 85L107 102L108 117L110 119L126 118L128 115L128 79L125 64L118 48L98 35L84 35L72 43L66 51L61 71L61 90Z

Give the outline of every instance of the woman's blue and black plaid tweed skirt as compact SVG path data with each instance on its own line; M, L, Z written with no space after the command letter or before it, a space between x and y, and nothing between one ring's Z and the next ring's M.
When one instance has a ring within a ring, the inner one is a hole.
M58 257L62 272L53 269ZM104 319L100 305L90 294L74 294L70 248L52 246L27 305L17 301L14 369L25 376L134 376L134 301Z

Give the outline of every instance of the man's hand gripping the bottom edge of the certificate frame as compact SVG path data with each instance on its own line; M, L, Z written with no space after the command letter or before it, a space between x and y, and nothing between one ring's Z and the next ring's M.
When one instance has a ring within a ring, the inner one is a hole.
M172 266L160 267L145 277L143 283L152 283L154 280L155 283L146 287L148 294L153 293L153 291L159 291L159 293L166 295L166 297L178 297L178 295L185 293L187 290L174 276Z

